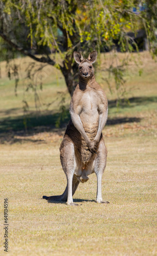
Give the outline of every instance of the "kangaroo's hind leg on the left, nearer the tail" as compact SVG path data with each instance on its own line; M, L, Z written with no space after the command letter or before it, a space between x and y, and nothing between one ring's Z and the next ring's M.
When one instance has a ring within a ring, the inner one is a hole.
M79 181L74 175L75 170L75 154L74 154L74 145L72 142L68 142L62 144L60 148L60 159L61 164L64 170L64 173L67 178L67 204L68 205L77 205L73 203L72 195L74 194L77 186L79 185Z

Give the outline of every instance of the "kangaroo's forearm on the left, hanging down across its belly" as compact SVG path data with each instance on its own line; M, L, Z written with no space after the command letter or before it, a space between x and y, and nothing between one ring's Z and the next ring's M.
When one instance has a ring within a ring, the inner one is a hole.
M80 116L73 113L73 112L70 112L70 116L71 116L72 123L74 124L76 129L81 133L84 140L88 144L90 142L90 139L88 138L87 134L85 133L85 130L84 130L84 127L83 127Z

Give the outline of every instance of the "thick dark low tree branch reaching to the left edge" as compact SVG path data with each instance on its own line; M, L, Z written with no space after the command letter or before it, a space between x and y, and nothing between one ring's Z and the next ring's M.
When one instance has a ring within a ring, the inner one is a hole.
M2 33L0 31L0 36L6 41L8 42L8 44L10 46L12 46L13 48L15 48L17 51L21 52L22 54L31 57L32 59L42 62L42 63L48 63L51 66L54 66L56 64L56 62L51 59L48 55L47 57L41 57L41 58L37 58L35 55L29 53L27 50L22 49L21 47L17 46L14 42L12 42L4 33Z

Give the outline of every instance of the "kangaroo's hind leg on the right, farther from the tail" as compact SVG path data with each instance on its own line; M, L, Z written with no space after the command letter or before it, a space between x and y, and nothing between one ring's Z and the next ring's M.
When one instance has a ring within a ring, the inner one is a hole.
M104 168L106 167L107 163L107 148L104 144L103 139L101 139L99 143L99 148L97 151L95 165L94 165L94 172L97 177L97 195L96 195L96 202L97 203L109 203L102 200L101 195L101 181L102 181L102 174L104 172Z

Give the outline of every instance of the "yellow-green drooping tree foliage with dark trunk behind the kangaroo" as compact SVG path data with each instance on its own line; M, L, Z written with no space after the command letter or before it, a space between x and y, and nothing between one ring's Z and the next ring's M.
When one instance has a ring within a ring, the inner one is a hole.
M137 12L133 8L137 8ZM2 0L1 56L9 62L20 52L60 69L72 95L77 75L73 51L82 51L85 55L94 49L98 53L114 48L123 52L138 51L135 38L141 29L150 52L155 54L156 14L155 0ZM60 54L62 63L52 52ZM113 72L117 79L122 77L121 71L121 67L119 70L110 67L109 73ZM18 79L16 68L14 74ZM119 83L120 80L116 86L119 87Z

